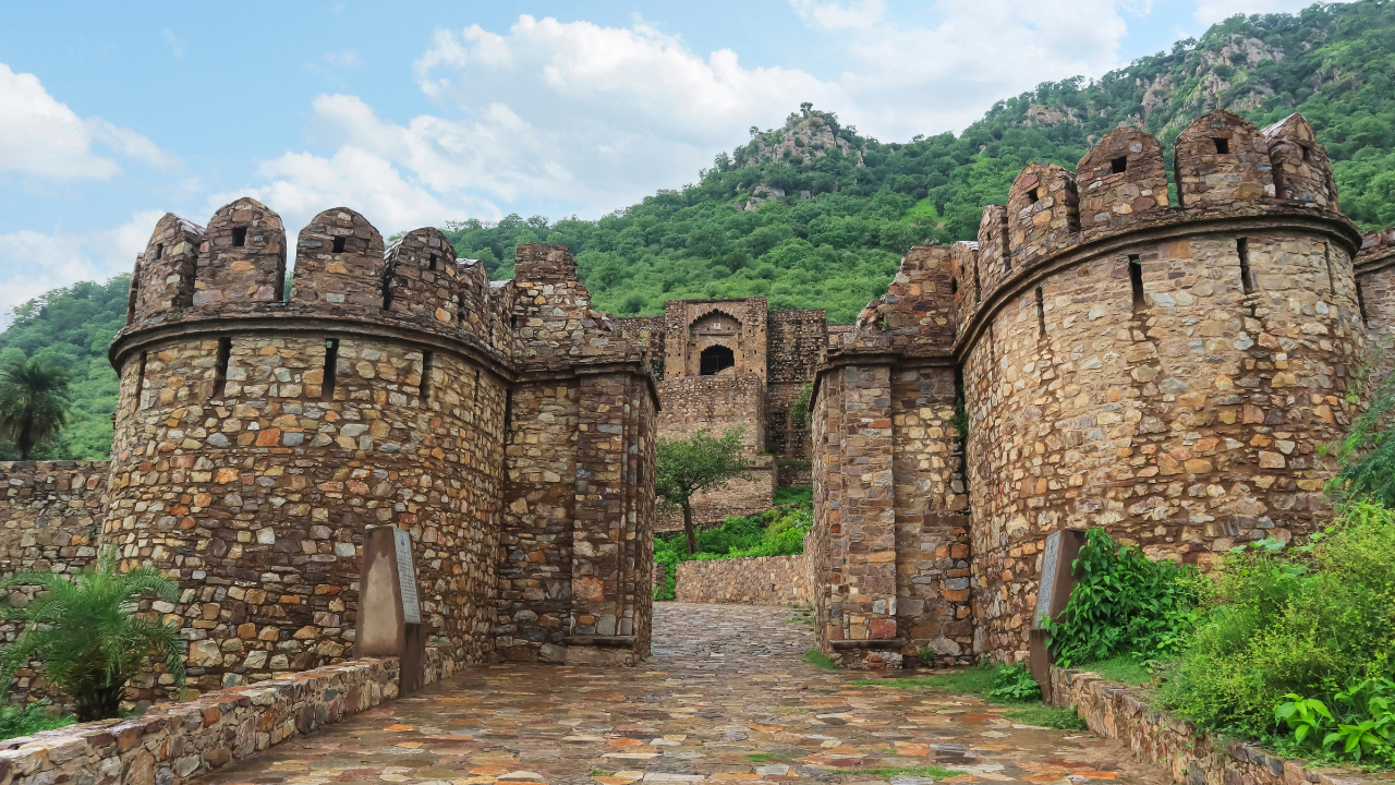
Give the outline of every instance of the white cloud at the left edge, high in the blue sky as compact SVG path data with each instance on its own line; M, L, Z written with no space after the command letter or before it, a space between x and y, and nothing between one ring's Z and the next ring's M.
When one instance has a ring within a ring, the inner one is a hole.
M38 77L0 63L0 172L54 180L100 180L120 172L116 161L93 152L93 144L158 166L176 162L135 131L100 117L78 117Z

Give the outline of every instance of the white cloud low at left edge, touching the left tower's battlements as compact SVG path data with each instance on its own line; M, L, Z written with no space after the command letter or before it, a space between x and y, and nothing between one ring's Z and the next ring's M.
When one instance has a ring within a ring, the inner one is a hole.
M130 272L160 215L160 211L133 212L126 223L89 235L61 229L47 235L29 229L0 235L0 323L10 321L14 306L50 289Z

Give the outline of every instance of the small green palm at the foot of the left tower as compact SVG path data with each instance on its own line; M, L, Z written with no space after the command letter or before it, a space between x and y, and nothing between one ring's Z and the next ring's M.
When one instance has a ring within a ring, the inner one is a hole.
M45 663L45 677L73 696L78 722L120 717L121 689L148 663L165 658L165 670L184 686L184 641L179 623L159 612L137 613L140 601L155 595L179 599L179 584L153 567L117 573L117 550L102 552L95 570L71 581L54 573L21 573L0 589L33 585L42 594L28 605L4 605L7 619L25 623L20 637L0 650L0 684L32 659Z

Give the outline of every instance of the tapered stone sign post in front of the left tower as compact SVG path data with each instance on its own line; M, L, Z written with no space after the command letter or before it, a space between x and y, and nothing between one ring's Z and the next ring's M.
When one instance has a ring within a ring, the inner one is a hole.
M400 693L421 687L427 629L417 601L417 570L412 535L396 527L368 527L363 535L359 574L359 656L396 656Z

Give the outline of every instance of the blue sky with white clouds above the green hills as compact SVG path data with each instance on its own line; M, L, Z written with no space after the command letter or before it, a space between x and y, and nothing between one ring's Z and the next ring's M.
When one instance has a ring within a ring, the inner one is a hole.
M0 25L0 310L131 268L166 211L251 194L384 235L604 215L799 102L960 130L1299 0L15 3Z

